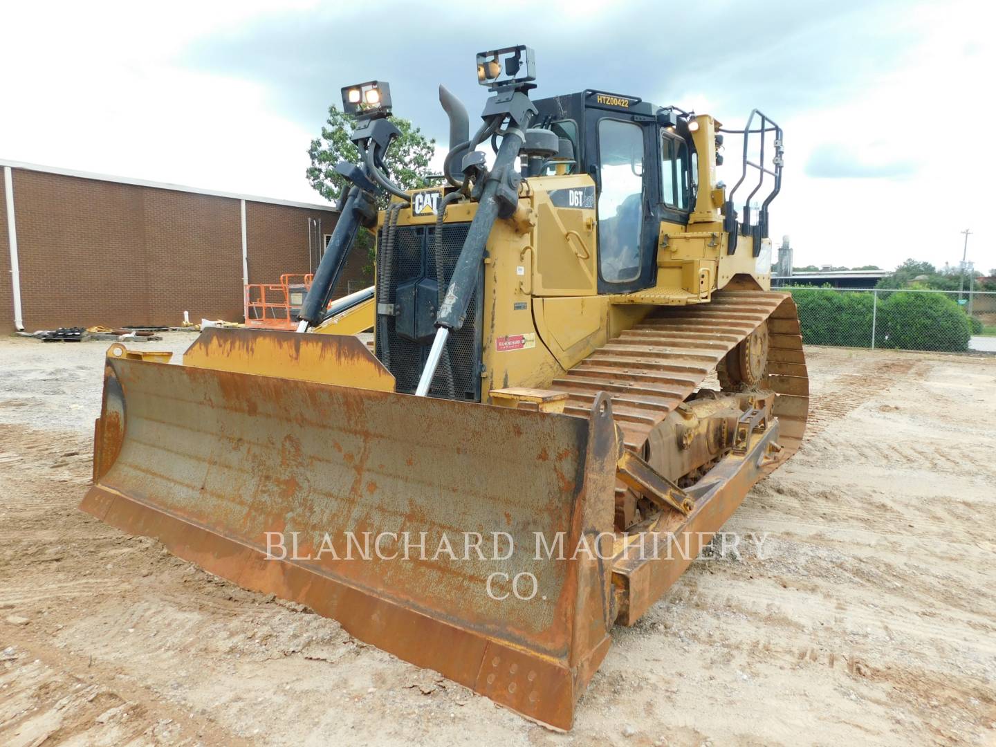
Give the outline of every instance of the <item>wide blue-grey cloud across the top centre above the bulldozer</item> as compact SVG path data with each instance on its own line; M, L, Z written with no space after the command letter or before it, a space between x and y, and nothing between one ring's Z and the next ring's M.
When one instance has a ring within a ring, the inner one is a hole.
M696 95L732 124L754 107L777 119L846 96L870 71L887 69L910 36L888 22L899 7L890 0L712 0L694 13L649 0L510 0L500 14L473 5L426 7L342 4L257 16L194 40L182 61L265 87L275 109L309 127L321 124L341 86L390 81L395 113L443 139L435 86L446 85L476 116L485 93L473 56L488 48L534 47L536 98L597 88L681 105L677 98Z

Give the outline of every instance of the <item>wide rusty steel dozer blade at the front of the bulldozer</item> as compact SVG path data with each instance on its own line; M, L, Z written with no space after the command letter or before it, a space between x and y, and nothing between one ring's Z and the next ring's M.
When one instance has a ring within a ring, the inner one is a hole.
M375 371L351 340L213 330L196 366L109 354L81 508L570 728L615 617L609 399L585 418L308 380L318 360ZM279 376L255 360L288 346Z

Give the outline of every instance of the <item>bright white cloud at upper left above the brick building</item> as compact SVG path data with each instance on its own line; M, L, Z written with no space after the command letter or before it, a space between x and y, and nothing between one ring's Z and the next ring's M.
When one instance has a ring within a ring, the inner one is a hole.
M193 39L274 1L177 0L168 13L134 3L5 7L0 90L11 116L0 118L0 155L323 201L304 178L310 128L275 110L255 81L173 62Z

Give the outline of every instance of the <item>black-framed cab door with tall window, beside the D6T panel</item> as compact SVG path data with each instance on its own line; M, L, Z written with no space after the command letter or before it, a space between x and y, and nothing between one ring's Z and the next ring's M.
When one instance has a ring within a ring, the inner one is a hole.
M655 119L589 107L585 124L597 187L599 293L649 288L660 222Z

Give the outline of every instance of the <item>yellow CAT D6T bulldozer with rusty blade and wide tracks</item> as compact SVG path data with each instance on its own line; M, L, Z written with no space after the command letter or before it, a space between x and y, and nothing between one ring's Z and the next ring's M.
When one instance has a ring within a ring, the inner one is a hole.
M442 181L391 180L390 90L342 90L359 164L295 331L110 349L81 508L554 729L632 625L800 446L796 308L770 290L781 127L477 55ZM717 176L724 137L739 180ZM491 153L488 153L490 145ZM742 191L741 191L742 190ZM361 230L375 279L332 295ZM332 303L331 303L332 302Z

